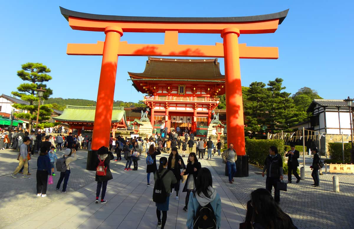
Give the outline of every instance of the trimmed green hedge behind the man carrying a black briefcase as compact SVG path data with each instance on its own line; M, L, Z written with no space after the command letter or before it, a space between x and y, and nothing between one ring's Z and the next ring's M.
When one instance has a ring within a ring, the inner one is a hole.
M258 166L263 166L265 158L269 155L269 147L272 145L278 148L278 153L284 161L284 140L258 140L246 138L246 154L248 155L249 162Z

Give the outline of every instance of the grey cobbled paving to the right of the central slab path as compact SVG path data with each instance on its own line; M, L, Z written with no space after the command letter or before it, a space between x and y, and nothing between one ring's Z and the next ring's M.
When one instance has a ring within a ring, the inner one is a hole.
M333 192L333 174L321 175L320 187L315 188L310 186L313 179L308 161L306 158L305 180L296 184L293 176L288 191L280 193L282 210L290 215L298 228L353 228L354 175L335 174L339 176L339 193ZM236 177L235 182L229 184L228 177L224 176L221 158L214 157L208 163L245 208L250 193L257 188L265 188L265 177L262 177L262 169L258 167L250 165L249 177ZM284 181L287 182L287 175Z

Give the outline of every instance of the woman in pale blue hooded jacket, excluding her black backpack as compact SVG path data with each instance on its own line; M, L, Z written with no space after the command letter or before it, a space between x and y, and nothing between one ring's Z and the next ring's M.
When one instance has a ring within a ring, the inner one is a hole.
M213 179L210 170L201 168L198 172L195 191L191 192L188 202L187 228L192 229L194 217L201 207L207 207L210 203L216 218L216 226L220 228L221 224L221 199L219 194L213 188ZM211 226L211 225L210 225Z

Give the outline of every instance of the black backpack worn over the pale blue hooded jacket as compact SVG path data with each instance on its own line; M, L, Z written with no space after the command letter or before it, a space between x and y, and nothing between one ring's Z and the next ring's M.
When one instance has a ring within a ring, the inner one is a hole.
M216 216L211 204L199 205L195 212L193 229L216 229Z

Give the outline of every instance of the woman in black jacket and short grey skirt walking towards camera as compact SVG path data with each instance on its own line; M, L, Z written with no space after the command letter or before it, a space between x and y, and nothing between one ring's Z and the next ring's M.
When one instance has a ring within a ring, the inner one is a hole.
M198 162L197 156L194 152L189 153L187 168L181 173L181 176L188 175L187 181L185 182L182 192L187 192L185 196L185 206L183 207L184 211L188 210L188 201L190 192L195 188L195 183L199 170L201 169L201 164Z

